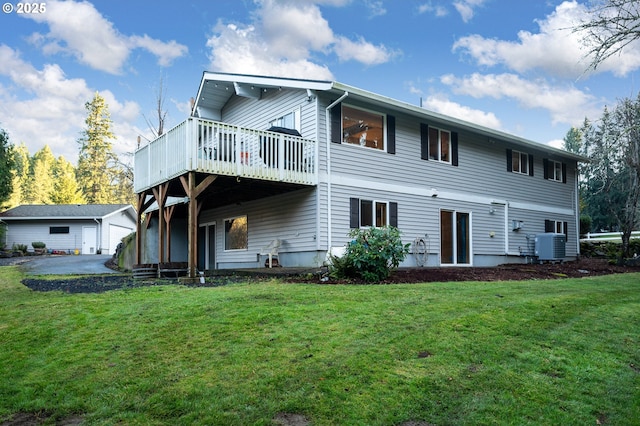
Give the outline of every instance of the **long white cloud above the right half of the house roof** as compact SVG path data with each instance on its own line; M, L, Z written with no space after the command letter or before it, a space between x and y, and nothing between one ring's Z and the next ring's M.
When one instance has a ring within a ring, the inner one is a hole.
M474 98L510 98L528 109L549 111L554 124L579 124L585 116L596 115L593 96L573 86L552 86L543 79L525 80L515 74L472 74L464 78L445 75L441 82L454 93Z

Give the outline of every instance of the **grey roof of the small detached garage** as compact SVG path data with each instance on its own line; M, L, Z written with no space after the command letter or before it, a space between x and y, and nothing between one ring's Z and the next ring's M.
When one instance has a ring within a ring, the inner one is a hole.
M26 204L0 213L0 220L93 220L127 210L135 218L135 210L131 204Z

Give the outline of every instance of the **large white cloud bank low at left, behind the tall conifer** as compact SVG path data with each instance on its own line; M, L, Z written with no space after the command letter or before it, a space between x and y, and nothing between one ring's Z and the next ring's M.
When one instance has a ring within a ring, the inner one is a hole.
M11 87L0 85L0 117L14 144L24 142L33 154L45 144L54 155L75 162L79 129L84 128L85 103L95 90L84 79L69 79L60 66L44 65L36 69L19 53L0 45L0 76L7 76ZM15 93L21 93L20 99ZM110 91L103 91L114 122L116 153L133 150L140 132L132 123L138 118L135 102L119 102ZM117 123L117 124L116 124Z

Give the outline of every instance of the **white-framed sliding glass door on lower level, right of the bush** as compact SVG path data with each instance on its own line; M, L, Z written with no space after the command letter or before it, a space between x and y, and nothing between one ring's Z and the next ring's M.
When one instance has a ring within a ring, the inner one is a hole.
M471 264L471 215L440 211L440 263L443 265Z

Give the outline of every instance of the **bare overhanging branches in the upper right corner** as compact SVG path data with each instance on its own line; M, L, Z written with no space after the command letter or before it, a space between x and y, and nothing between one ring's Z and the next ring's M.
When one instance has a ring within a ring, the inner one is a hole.
M640 39L640 2L638 0L596 0L588 20L573 28L592 58L590 69L596 69L611 56L620 53Z

